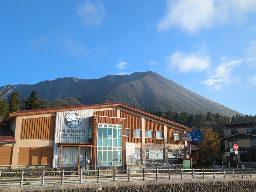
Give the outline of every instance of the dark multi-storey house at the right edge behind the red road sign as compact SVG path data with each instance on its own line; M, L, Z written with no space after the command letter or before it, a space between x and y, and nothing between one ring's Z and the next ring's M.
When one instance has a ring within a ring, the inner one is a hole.
M244 163L245 167L256 166L256 123L247 121L240 123L224 124L222 139L223 154L230 152L230 157L223 157L223 162L230 162L231 167L239 167ZM233 145L238 144L238 155L234 154Z

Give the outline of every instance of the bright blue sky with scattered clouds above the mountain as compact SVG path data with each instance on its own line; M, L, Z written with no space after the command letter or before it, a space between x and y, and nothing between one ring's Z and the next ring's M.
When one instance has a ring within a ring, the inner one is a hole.
M0 86L153 71L255 115L255 0L0 1Z

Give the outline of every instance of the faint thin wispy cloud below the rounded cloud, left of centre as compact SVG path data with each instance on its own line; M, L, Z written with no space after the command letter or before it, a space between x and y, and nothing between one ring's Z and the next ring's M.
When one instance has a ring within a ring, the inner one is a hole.
M62 49L73 55L83 55L86 54L86 46L84 46L79 41L71 41L70 39L64 39L61 41L63 43Z

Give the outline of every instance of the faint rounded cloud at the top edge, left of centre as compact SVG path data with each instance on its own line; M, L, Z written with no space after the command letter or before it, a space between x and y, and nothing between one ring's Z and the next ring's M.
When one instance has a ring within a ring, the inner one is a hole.
M90 1L77 3L76 12L86 26L99 26L101 25L102 20L106 17L105 8L99 1L96 1L95 4Z

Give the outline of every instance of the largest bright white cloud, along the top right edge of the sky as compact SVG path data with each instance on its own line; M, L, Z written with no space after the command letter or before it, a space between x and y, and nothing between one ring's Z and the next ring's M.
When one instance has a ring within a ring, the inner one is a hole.
M167 13L159 22L158 30L173 26L189 32L233 21L242 23L246 14L256 11L255 0L169 0Z

